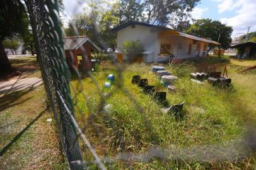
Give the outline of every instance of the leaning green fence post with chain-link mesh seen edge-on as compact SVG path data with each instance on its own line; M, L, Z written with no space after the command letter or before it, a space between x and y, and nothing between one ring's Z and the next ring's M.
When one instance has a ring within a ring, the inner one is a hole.
M83 169L78 132L71 115L73 101L63 49L57 1L25 1L28 8L45 90L54 112L63 153L71 169Z

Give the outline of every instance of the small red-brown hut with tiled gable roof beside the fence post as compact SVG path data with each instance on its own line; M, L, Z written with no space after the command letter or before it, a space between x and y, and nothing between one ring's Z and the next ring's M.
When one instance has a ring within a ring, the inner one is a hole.
M72 70L74 65L81 64L83 71L91 69L91 52L101 51L95 43L86 36L63 37L67 65ZM81 56L81 60L78 59ZM79 60L79 61L78 61Z

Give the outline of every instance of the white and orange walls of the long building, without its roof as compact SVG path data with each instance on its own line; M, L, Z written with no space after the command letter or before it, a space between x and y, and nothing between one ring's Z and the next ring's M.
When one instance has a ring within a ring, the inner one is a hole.
M158 62L168 59L168 57L160 57L161 43L172 45L172 54L174 54L177 59L187 59L198 56L202 57L207 51L207 47L206 51L203 51L204 44L207 45L207 43L199 41L194 43L194 41L189 38L172 35L161 36L159 35L159 30L141 25L135 25L134 28L132 28L132 26L127 26L126 28L117 31L117 48L119 51L125 40L140 40L141 43L143 43L144 50L146 50L146 54L144 54L143 57L145 62ZM200 44L200 52L197 50L197 43ZM190 54L188 53L189 44L192 45Z

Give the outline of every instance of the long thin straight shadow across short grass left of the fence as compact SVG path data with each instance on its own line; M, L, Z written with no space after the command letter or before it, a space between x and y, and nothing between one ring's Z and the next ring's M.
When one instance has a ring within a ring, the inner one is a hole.
M13 145L18 139L20 139L21 135L23 135L23 133L26 132L26 130L28 130L28 128L31 127L31 125L33 125L33 123L35 123L38 118L40 118L43 113L45 113L45 111L47 111L48 107L42 111L37 117L35 117L32 122L28 123L28 125L26 125L25 128L23 128L23 130L20 131L20 133L18 133L10 142L9 144L7 144L1 151L0 151L0 157L3 156L3 154L11 147L11 145Z

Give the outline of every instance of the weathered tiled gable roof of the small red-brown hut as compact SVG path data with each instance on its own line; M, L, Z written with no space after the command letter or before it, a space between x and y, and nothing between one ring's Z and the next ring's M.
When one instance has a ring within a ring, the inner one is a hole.
M88 42L91 45L93 50L101 51L100 47L98 47L95 43L91 42L91 40L83 35L83 36L74 36L74 37L63 37L64 49L65 50L77 50L81 45Z

